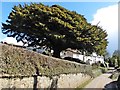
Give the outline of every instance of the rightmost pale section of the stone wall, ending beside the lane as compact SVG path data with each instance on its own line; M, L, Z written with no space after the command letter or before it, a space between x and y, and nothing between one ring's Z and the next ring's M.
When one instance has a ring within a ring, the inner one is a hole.
M90 78L90 76L81 73L68 75L62 74L58 79L58 88L75 88Z

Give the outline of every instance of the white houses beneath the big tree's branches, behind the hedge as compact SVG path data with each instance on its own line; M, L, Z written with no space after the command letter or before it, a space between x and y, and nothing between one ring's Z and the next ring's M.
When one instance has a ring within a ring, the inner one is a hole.
M73 50L68 48L67 50L61 52L60 55L61 55L61 58L65 58L65 57L76 58L86 63L89 63L90 65L93 63L97 63L99 61L101 63L104 63L104 57L97 55L95 52L93 52L90 56L85 56L85 55L82 55L81 52L78 50Z

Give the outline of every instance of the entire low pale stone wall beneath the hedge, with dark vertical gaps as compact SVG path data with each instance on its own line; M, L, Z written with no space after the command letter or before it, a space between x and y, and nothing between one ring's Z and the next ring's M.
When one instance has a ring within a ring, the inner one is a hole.
M59 76L32 76L32 77L11 77L0 76L0 90L2 88L75 88L91 77L81 73L61 74Z

